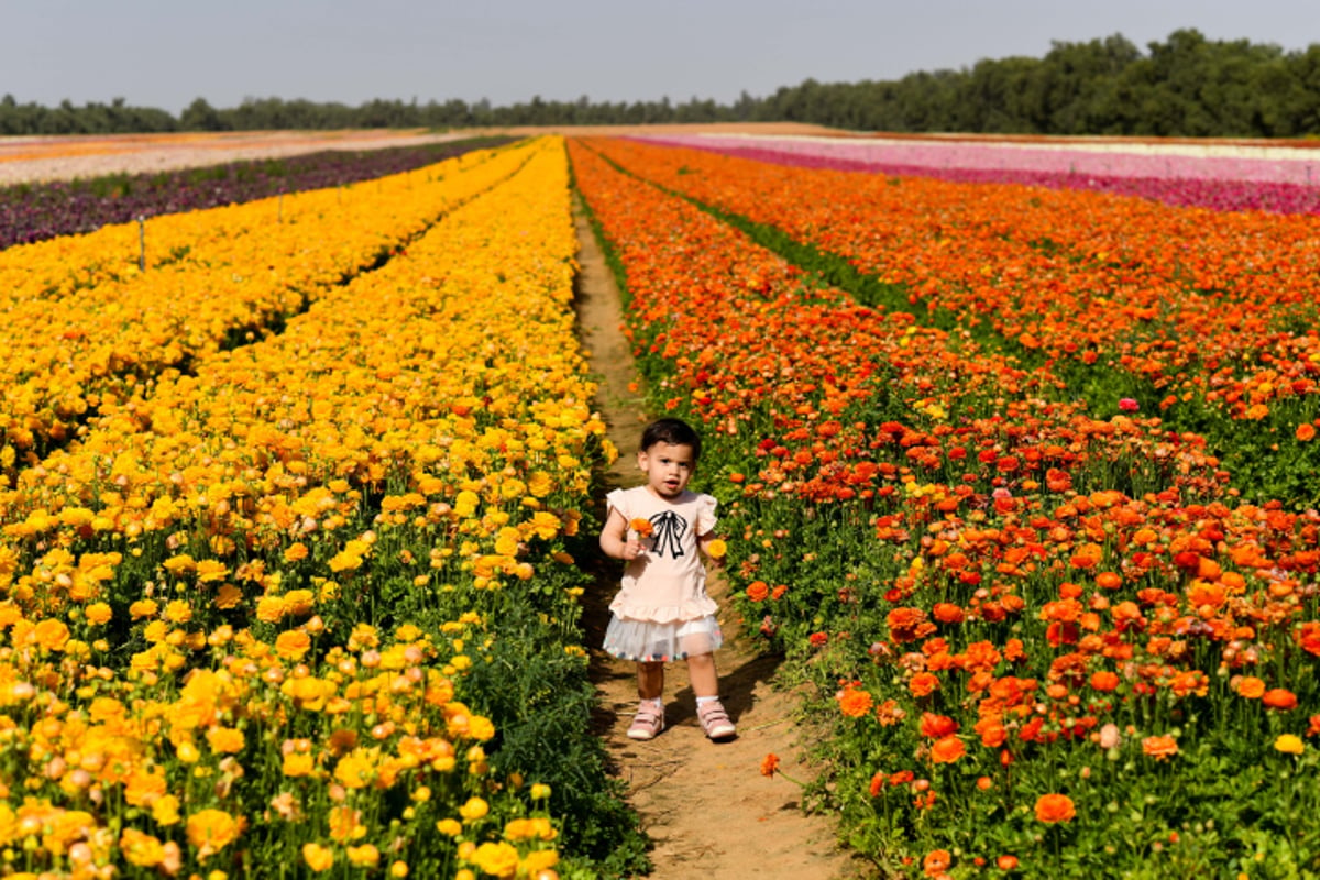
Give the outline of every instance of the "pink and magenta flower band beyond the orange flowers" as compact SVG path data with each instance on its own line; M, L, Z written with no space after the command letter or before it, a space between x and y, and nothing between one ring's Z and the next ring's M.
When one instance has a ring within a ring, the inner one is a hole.
M803 168L1084 189L1221 211L1320 214L1320 149L1290 150L1287 158L1246 158L1032 149L968 141L913 144L714 136L644 140Z

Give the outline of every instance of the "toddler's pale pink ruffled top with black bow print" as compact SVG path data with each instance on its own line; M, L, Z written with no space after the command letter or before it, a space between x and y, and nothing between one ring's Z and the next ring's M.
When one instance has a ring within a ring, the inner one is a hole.
M643 538L645 553L623 570L623 587L610 603L610 611L626 620L675 623L698 620L715 613L719 606L706 595L706 566L697 540L715 530L715 499L684 491L675 501L652 493L647 487L615 489L606 496L606 516L623 515L651 521L651 537Z

